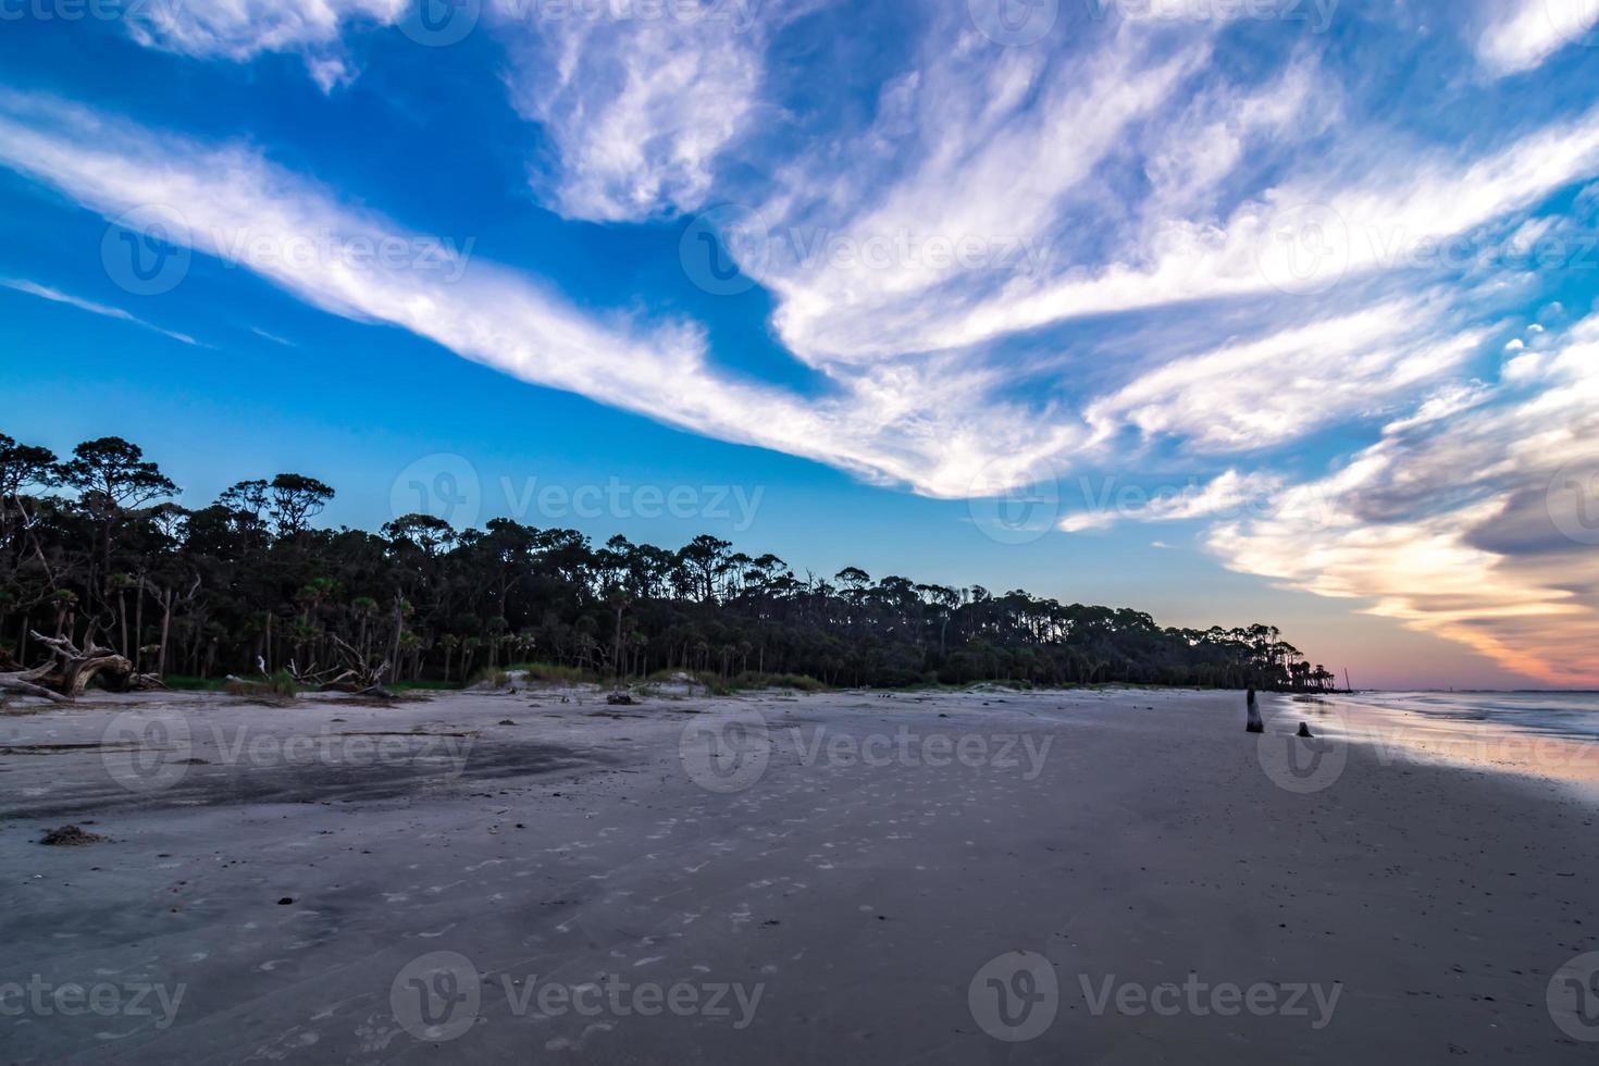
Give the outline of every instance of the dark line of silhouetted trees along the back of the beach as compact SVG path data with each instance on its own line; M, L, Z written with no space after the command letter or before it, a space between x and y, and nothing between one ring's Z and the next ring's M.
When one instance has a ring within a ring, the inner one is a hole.
M341 652L389 682L539 662L601 678L803 674L830 686L1145 682L1326 689L1268 625L1185 630L1027 591L857 567L798 575L712 535L676 548L496 518L323 529L334 489L280 473L197 510L117 436L59 459L0 433L0 665L67 638L138 673L217 678Z

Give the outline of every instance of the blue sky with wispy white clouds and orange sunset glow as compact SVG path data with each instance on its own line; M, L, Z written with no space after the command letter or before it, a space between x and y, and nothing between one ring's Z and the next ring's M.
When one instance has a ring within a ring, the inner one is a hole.
M1599 0L0 0L0 432L1599 687Z

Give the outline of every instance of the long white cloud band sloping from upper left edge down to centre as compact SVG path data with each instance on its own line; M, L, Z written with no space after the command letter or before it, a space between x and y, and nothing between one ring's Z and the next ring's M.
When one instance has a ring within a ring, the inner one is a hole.
M991 382L958 366L871 368L819 401L734 380L708 366L692 323L580 312L542 281L449 251L467 241L411 233L249 149L0 93L0 163L109 219L154 205L168 240L328 312L392 323L528 382L875 481L959 497L974 478L1068 447L1070 430L1041 435L1020 411L996 432L991 420L1007 408L985 395ZM427 254L371 254L385 248Z

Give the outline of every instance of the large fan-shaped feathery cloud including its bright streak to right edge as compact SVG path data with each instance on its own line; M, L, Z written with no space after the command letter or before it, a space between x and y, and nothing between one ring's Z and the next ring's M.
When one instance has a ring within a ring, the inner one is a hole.
M1487 147L1401 144L1345 128L1314 53L1262 82L1218 74L1215 24L1108 24L1092 46L1047 51L995 50L951 22L884 86L870 129L776 168L753 201L766 232L732 243L812 364L1438 272L1441 241L1599 173L1599 109ZM1335 149L1292 152L1329 131Z

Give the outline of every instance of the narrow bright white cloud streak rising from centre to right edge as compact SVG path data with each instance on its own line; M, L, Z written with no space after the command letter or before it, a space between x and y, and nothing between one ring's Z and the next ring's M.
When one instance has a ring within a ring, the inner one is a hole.
M807 305L807 329L787 310L779 323L801 350L879 352L977 345L1071 318L1204 299L1274 294L1286 299L1350 284L1372 272L1426 270L1442 238L1468 233L1599 173L1599 110L1525 134L1479 158L1390 152L1377 173L1351 184L1326 177L1284 182L1249 200L1223 225L1146 219L1135 243L1100 267L1043 280L1017 276L940 292L932 302ZM1436 264L1434 264L1436 267Z

